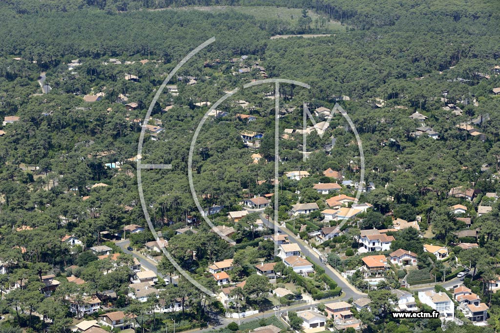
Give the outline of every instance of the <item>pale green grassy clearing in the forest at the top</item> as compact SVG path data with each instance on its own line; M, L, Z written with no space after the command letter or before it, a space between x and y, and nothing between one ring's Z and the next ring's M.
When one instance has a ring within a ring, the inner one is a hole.
M186 10L186 9L196 9L211 12L222 12L226 10L233 9L235 11L252 15L257 18L262 18L266 20L281 19L285 23L290 25L290 28L298 26L298 19L302 15L302 9L300 8L285 8L285 7L273 7L273 6L189 6L180 8L167 8L174 10ZM329 20L326 16L315 13L312 10L307 10L307 15L312 19L311 28L314 28L314 20L321 18L325 19L325 26L321 27L321 31L345 31L345 25L342 25L338 21Z

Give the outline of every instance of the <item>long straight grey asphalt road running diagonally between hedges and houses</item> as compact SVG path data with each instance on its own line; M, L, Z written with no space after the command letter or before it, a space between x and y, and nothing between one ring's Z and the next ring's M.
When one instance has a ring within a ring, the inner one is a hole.
M326 275L328 275L331 279L333 279L333 281L336 282L336 284L338 285L338 287L342 288L342 291L345 293L345 297L343 298L343 300L348 300L351 297L354 300L356 300L358 298L366 296L366 294L363 294L363 293L357 291L357 289L355 289L351 284L349 284L347 282L347 280L345 280L342 276L340 276L340 274L337 273L329 265L323 264L321 262L319 256L316 254L316 252L314 252L301 239L298 239L291 231L289 231L286 228L281 228L277 224L273 223L273 221L267 221L265 219L265 216L263 214L260 215L260 218L262 219L262 221L265 224L267 224L269 222L271 226L274 225L275 230L279 230L282 233L287 234L290 239L293 239L295 241L295 243L298 244L298 246L300 247L300 251L302 252L302 254L304 254L305 256L307 256L317 266L322 267L324 269Z

